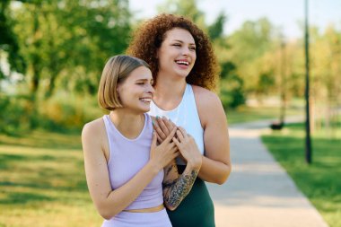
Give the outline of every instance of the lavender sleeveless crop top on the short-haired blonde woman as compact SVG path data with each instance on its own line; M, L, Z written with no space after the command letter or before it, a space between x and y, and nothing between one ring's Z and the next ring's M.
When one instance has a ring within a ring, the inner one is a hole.
M144 128L135 139L122 135L109 115L103 116L109 141L109 179L111 188L115 190L126 184L149 161L153 137L152 118L144 114ZM136 200L125 210L150 208L163 203L162 197L163 170L147 185Z

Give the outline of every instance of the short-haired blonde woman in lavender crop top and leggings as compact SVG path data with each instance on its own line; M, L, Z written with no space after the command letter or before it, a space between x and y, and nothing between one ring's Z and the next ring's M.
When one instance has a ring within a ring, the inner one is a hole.
M185 139L173 142L181 131L170 124L170 135L157 144L152 118L146 114L153 93L153 76L143 60L109 59L98 92L99 103L109 115L86 124L82 133L86 180L105 219L103 227L171 226L164 205L171 210L179 205L195 181L191 173L200 168L201 162L190 162L188 173L180 177L170 170L179 153L186 155L179 148ZM162 189L162 182L174 180L177 190Z

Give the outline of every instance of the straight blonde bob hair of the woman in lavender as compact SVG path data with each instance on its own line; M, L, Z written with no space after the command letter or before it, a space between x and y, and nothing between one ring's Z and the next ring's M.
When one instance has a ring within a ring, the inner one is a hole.
M123 107L118 97L118 83L124 82L129 74L140 66L151 69L144 60L137 57L119 55L109 58L101 74L98 92L101 108L114 110Z

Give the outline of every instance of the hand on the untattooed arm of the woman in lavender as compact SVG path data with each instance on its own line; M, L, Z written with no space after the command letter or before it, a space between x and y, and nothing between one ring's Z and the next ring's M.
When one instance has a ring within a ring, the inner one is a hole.
M153 165L157 166L157 168L160 170L162 170L166 165L170 163L170 161L174 160L179 155L177 145L171 141L176 131L177 128L174 127L170 131L170 135L168 135L163 140L162 144L159 145L156 144L156 132L153 132L153 140L149 160L150 162L153 162Z

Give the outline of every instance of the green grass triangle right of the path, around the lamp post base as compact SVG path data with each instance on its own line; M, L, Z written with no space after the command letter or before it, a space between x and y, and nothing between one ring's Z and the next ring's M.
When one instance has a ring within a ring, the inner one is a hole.
M312 164L304 162L302 124L285 127L282 132L263 135L262 140L275 159L309 197L330 227L341 227L341 127L312 137Z

